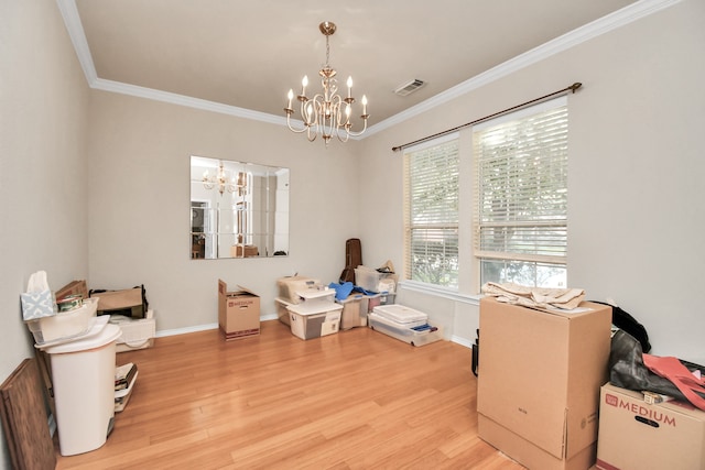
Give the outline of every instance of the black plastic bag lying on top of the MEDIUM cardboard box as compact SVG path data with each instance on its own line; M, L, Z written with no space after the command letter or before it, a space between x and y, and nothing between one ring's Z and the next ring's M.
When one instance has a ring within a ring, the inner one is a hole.
M654 392L684 402L688 401L673 382L654 374L644 365L641 343L623 330L617 330L612 336L609 352L609 382L627 390ZM701 395L705 397L705 394Z

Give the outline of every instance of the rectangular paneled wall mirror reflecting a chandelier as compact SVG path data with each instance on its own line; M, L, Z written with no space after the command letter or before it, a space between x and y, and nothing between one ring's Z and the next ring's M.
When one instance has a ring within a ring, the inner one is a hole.
M289 168L191 157L193 260L289 255Z

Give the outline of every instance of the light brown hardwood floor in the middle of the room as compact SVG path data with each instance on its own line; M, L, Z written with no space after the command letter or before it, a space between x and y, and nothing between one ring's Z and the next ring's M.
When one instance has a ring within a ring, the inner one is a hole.
M303 341L263 321L117 354L134 391L99 449L57 469L523 469L477 437L469 349L368 328ZM56 439L55 439L56 440Z

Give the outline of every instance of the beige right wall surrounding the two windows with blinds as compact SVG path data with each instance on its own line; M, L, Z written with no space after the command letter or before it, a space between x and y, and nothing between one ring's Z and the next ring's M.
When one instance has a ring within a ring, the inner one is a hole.
M581 81L568 98L568 283L636 316L654 353L705 363L704 20L705 2L685 0L366 139L361 164L376 172L361 205L388 208L360 226L366 262L402 263L402 155L392 146ZM429 308L459 313L446 326L474 340L471 304Z

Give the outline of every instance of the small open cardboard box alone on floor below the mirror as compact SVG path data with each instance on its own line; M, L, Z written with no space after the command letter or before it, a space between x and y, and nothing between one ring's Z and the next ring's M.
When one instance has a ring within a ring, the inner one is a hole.
M218 326L228 341L260 334L260 297L238 288L228 292L225 281L218 280Z

